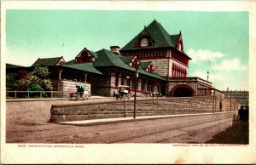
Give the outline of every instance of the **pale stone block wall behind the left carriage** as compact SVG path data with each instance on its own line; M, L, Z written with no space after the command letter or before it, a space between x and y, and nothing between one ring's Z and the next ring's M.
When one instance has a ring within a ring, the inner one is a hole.
M62 91L63 97L68 97L70 92L76 92L77 88L76 85L83 84L85 86L85 90L90 90L90 83L78 82L78 81L68 81L68 80L61 80L58 83L58 90Z

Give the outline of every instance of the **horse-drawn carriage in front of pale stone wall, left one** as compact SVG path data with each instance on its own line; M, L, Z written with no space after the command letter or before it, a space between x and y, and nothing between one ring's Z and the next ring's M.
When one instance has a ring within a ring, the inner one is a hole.
M90 90L86 89L83 84L76 85L77 91L69 93L69 100L88 100L90 97Z

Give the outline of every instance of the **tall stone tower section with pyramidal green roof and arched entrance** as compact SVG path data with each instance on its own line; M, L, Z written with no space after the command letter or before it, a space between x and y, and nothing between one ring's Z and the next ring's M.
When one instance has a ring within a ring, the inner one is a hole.
M120 54L137 56L141 62L150 62L154 71L166 79L161 93L171 96L209 95L212 83L199 77L188 77L189 56L183 51L181 31L170 35L159 22L154 20L131 39Z

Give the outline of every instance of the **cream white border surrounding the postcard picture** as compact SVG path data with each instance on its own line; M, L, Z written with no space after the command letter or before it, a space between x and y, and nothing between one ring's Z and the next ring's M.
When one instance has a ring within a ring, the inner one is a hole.
M250 145L173 147L172 144L84 145L83 149L18 148L5 144L6 9L97 9L249 12ZM1 162L2 163L255 163L256 3L253 1L3 1L1 4Z

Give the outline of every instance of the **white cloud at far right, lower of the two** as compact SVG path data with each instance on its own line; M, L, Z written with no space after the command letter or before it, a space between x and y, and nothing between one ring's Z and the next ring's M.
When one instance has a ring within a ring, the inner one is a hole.
M222 60L220 64L212 65L212 70L215 71L245 71L246 65L241 65L241 60L236 58L232 60Z

